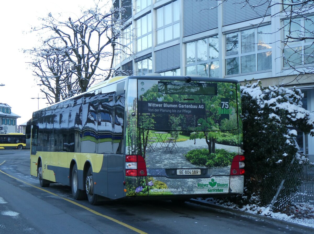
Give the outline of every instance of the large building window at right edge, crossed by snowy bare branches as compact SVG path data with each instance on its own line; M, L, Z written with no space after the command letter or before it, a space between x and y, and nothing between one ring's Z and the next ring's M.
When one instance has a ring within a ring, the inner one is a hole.
M314 16L283 20L284 26L284 67L314 63ZM298 38L310 37L300 40ZM295 38L295 39L294 39Z

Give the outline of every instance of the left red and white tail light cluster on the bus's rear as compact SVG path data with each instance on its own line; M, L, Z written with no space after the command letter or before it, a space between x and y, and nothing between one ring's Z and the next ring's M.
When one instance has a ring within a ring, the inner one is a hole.
M147 176L146 163L141 155L126 155L126 176Z

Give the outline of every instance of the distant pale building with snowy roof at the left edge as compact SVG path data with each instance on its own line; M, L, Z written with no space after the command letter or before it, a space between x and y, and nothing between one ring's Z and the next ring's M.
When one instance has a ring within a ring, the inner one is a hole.
M0 133L18 132L17 118L20 116L11 112L11 106L0 103Z

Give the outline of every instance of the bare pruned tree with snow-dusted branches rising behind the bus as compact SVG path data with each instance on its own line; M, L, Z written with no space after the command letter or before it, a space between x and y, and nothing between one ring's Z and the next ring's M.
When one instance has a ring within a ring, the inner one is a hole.
M24 50L39 79L42 92L54 103L87 91L95 81L111 76L117 39L123 37L125 20L116 17L123 8L107 5L81 10L81 16L59 20L51 13L32 32L42 37L41 45ZM106 12L107 10L107 12Z

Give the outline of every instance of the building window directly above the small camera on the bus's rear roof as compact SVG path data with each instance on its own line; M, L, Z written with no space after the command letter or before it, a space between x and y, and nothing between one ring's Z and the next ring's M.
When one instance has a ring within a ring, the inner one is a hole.
M219 76L218 36L186 43L186 75Z

